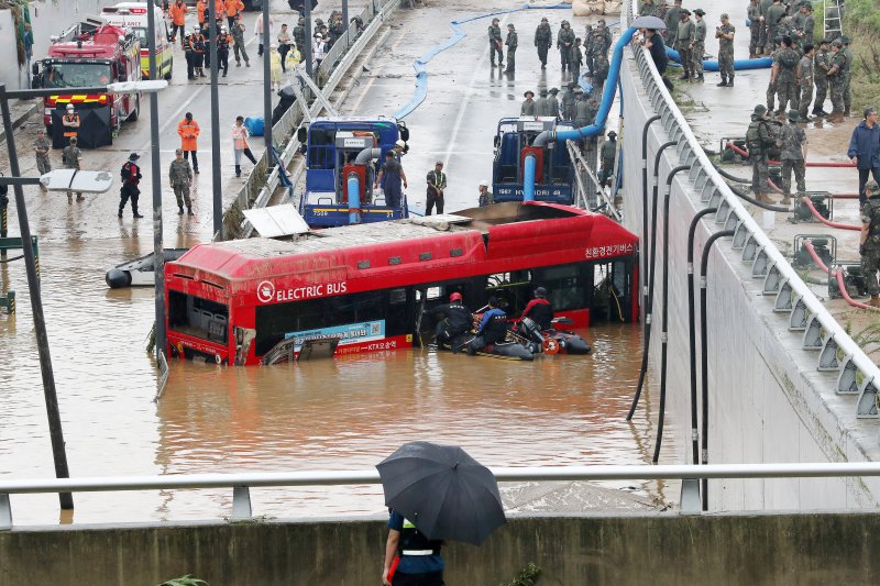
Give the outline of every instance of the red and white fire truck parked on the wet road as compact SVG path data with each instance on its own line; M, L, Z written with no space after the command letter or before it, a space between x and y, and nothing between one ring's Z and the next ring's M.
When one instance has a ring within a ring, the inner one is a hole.
M33 85L58 88L44 98L43 122L56 147L66 146L62 117L73 103L80 147L112 144L123 121L138 120L140 92L77 93L76 88L141 80L141 43L133 33L86 19L52 37L46 58L33 64Z

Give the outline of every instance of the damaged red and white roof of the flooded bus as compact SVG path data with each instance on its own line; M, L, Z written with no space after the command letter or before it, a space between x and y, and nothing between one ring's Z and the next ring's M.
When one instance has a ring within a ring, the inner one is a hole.
M552 203L506 202L455 215L330 228L292 240L200 244L169 263L168 272L210 274L228 281L328 270L365 276L413 265L448 266L454 257L459 257L452 261L455 264L498 261L503 265L520 256L554 252L572 257L561 262L624 256L632 254L637 242L635 234L604 215ZM603 254L591 256L591 247Z

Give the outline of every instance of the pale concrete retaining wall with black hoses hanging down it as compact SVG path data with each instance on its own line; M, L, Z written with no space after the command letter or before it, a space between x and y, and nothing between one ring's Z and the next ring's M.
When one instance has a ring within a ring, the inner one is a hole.
M625 223L642 235L641 132L654 112L635 59L626 52L624 87ZM640 98L640 99L637 99ZM657 147L670 140L653 123L648 134L649 195ZM669 170L679 165L675 148L660 163L658 266L650 378L657 388L660 367L662 301L662 201ZM649 204L650 206L650 204ZM669 376L667 433L674 435L676 462L691 461L690 362L688 336L686 239L691 218L705 207L688 174L673 181L670 200ZM650 207L649 207L650 209ZM721 230L708 217L696 232L695 258L710 233ZM730 239L718 241L708 270L710 463L846 462L878 460L877 421L857 420L853 397L832 390L837 373L816 371L815 354L801 349L801 332L790 332L789 314L772 311ZM696 294L698 296L698 291ZM697 297L698 299L698 297ZM697 305L698 316L698 305ZM698 343L698 329L697 329ZM698 349L697 349L698 357ZM697 358L697 365L700 364ZM698 385L698 378L697 378ZM697 387L698 388L698 387ZM673 462L667 462L673 463ZM713 480L712 510L817 509L876 507L876 479Z

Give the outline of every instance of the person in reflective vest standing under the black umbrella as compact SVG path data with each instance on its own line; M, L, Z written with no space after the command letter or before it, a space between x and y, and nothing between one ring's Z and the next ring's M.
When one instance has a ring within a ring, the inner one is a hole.
M444 565L440 556L442 544L442 541L429 540L411 521L392 509L388 517L388 540L385 543L385 564L382 568L383 586L393 584L442 586ZM395 570L392 570L393 566Z

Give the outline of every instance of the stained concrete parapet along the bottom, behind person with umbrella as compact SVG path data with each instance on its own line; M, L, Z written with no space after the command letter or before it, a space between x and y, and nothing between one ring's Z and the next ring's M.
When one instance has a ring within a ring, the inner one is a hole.
M0 585L380 583L383 521L206 523L0 533ZM741 515L514 519L481 548L444 550L447 584L873 584L880 516Z

